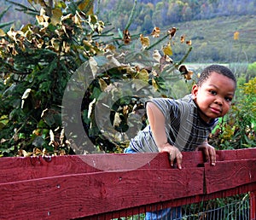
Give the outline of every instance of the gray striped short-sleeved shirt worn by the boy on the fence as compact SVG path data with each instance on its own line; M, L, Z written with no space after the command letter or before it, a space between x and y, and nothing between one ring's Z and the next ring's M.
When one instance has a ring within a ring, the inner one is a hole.
M184 96L179 100L154 98L148 101L153 102L164 114L167 141L180 151L195 150L206 141L218 123L218 119L214 119L210 124L207 124L199 117L198 107L191 95ZM149 125L131 139L130 148L142 153L159 151Z

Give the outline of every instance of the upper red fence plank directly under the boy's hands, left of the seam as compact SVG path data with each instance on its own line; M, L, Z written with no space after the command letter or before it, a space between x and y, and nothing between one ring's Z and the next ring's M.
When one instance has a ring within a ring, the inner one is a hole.
M183 153L183 167L203 163L201 152ZM89 155L0 158L0 183L96 171L171 168L167 153L98 153Z

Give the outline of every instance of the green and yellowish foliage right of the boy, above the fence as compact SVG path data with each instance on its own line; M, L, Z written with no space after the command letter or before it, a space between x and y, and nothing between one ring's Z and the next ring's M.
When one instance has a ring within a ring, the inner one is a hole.
M238 87L236 101L212 135L211 142L219 149L256 147L256 78Z

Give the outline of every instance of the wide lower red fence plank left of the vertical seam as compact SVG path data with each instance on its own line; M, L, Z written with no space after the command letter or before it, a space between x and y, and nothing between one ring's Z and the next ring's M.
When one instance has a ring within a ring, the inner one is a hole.
M203 168L103 171L0 184L0 219L70 219L203 193Z

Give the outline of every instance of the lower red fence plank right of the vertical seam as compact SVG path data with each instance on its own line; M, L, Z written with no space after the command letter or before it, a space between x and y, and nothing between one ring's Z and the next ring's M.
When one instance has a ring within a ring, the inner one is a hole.
M256 159L240 159L205 165L207 194L256 182Z

